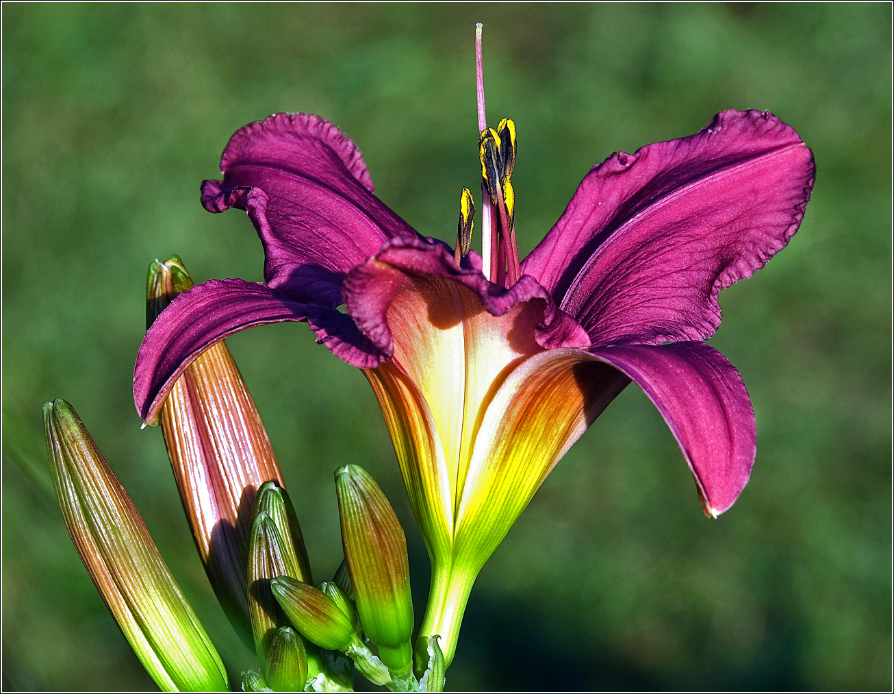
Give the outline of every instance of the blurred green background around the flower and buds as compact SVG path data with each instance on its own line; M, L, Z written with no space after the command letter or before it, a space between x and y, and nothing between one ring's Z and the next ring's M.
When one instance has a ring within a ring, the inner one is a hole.
M198 563L160 432L131 400L148 262L260 280L246 217L209 215L229 136L322 114L379 196L452 241L475 188L473 30L489 114L519 129L521 251L615 150L768 109L814 149L804 224L721 295L711 343L755 405L750 484L706 520L631 386L487 564L454 690L891 686L890 5L276 4L3 7L3 688L153 689L52 493L40 406L63 397L144 514L222 656L240 645ZM365 379L306 326L228 341L265 419L316 574L341 559L332 473L370 470L425 551ZM235 680L234 680L235 681Z

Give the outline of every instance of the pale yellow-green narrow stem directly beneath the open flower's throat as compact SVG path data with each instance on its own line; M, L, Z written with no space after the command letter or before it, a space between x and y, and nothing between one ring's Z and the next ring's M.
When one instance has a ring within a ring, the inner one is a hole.
M478 571L460 571L453 567L445 570L433 563L426 617L416 641L417 661L421 659L424 662L417 664L427 663L426 646L428 639L435 634L441 637L439 645L444 655L444 666L451 664L468 594L472 591L477 574Z

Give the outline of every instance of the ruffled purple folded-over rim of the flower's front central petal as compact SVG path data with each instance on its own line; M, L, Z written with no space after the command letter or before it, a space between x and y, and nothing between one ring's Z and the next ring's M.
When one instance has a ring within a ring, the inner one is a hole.
M535 338L541 347L590 345L584 329L553 303L533 277L522 276L517 284L505 289L485 280L476 269L457 267L450 249L443 243L393 239L384 244L375 258L354 268L342 285L348 314L386 358L391 358L393 351L388 307L414 276L438 277L462 284L477 294L483 308L493 316L502 316L524 301L540 301L544 317L535 328Z

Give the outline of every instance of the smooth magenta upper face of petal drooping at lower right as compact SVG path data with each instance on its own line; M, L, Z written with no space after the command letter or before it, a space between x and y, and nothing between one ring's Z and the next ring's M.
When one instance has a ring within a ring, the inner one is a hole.
M704 512L730 508L755 464L755 411L742 377L704 343L612 345L590 351L639 385L676 437Z

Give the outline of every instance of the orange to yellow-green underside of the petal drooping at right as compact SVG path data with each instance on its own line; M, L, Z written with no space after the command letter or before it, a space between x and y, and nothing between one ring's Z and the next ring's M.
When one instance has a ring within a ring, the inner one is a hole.
M455 566L477 571L552 467L629 379L585 351L545 351L508 377L477 432L455 534Z

